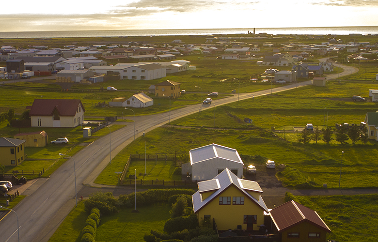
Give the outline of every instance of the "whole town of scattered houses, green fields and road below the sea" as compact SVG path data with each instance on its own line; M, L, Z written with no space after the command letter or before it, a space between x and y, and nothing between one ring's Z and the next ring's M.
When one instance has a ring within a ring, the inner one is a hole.
M374 238L376 35L1 45L0 242Z

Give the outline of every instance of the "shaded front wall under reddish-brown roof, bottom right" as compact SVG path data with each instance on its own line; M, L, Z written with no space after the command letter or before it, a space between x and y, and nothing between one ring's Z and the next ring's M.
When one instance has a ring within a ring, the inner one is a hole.
M287 238L288 233L299 232L298 238ZM308 233L320 233L320 238L308 238ZM282 233L282 242L325 242L326 241L326 231L316 227L310 223L303 222L295 227L289 228Z

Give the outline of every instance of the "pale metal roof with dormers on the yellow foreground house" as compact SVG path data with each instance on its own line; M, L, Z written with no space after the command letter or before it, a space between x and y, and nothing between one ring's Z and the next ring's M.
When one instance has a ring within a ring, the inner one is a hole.
M242 182L245 185L249 184L253 189L245 188L242 185ZM256 203L262 210L268 212L267 205L265 205L265 202L261 196L259 196L259 199L257 200L246 191L246 190L252 190L258 193L262 193L263 190L261 190L260 185L256 181L249 181L249 180L243 180L243 179L237 178L237 176L234 173L232 173L228 168L224 169L221 173L219 173L218 176L216 176L212 180L198 182L198 188L199 189L201 188L201 189L191 196L194 212L198 212L199 210L204 208L206 204L208 204L215 198L219 197L221 193L225 191L227 188L229 188L230 186L235 186L246 197L248 197L254 203ZM201 192L214 191L214 192L209 197L206 197L204 200L202 200L200 191Z

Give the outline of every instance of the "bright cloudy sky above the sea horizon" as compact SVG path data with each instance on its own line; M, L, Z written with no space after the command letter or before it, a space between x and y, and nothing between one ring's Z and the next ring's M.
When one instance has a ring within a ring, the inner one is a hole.
M3 0L0 6L0 32L378 26L378 0Z

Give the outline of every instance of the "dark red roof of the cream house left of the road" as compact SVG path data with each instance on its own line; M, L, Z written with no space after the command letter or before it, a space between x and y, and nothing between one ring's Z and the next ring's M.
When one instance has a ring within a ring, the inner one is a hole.
M79 99L34 99L29 115L51 116L57 109L60 116L75 116L79 104L85 112Z

